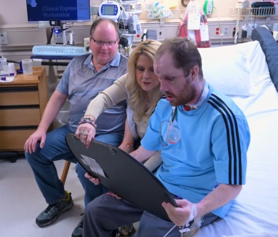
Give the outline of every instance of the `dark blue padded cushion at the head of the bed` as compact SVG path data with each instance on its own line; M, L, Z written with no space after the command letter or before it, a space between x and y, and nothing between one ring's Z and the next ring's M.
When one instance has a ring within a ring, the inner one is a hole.
M252 31L251 39L259 41L270 72L270 77L278 91L278 45L271 32L265 27L257 27Z

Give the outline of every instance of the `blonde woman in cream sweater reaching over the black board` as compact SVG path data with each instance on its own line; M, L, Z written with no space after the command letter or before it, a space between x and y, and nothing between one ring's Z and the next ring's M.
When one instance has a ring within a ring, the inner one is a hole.
M89 146L94 139L97 133L95 124L97 124L98 116L111 106L126 99L126 129L119 148L127 153L133 151L134 141L138 138L141 139L145 134L149 117L162 96L160 82L153 72L153 59L160 44L160 42L151 39L140 43L128 59L127 74L120 77L112 86L100 92L90 102L76 130L76 136L84 144ZM144 165L150 171L153 171L161 163L160 152L156 152ZM76 167L76 169L83 169L79 164L77 166L79 167ZM84 171L85 173L86 171ZM88 174L86 174L86 177L90 178ZM87 182L90 182L89 179ZM129 236L131 230L132 226L120 227L118 232L121 236Z

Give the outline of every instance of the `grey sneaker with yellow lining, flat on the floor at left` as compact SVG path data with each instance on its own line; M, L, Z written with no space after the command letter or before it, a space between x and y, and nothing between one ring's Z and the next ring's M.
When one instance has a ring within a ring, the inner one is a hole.
M36 224L39 227L47 226L53 223L63 211L67 211L72 208L73 201L71 193L65 191L65 198L60 199L55 204L50 204L42 211L36 218Z

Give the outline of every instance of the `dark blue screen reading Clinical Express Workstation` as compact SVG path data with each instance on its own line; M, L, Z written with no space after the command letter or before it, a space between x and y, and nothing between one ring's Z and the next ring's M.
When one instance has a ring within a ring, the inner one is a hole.
M28 22L90 21L90 0L26 0Z

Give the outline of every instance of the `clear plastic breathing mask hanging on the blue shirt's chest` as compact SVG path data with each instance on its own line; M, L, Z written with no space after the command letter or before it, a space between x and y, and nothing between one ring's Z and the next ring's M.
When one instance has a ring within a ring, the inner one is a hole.
M177 107L173 107L172 113L171 113L171 118L170 121L164 120L160 123L159 127L159 141L162 147L166 147L167 143L169 142L170 144L176 144L180 140L180 130L173 126L173 121L175 119L175 116L177 114ZM167 126L167 133L166 133L166 139L165 141L163 140L162 136L162 129L163 127Z

